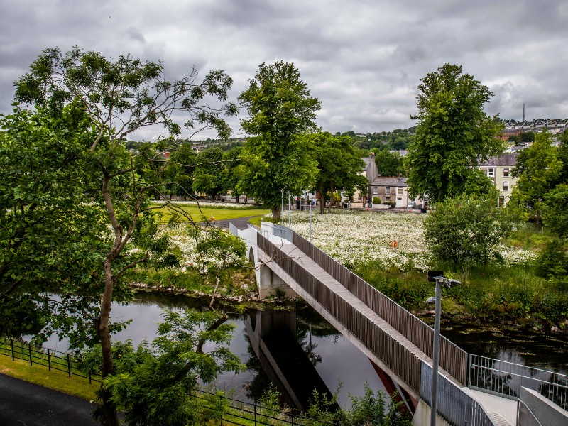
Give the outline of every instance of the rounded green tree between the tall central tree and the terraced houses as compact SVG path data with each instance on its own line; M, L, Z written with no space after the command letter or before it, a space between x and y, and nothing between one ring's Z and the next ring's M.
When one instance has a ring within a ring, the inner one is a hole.
M317 182L315 189L320 192L320 213L324 213L323 200L332 200L336 191L350 191L355 187L366 192L368 180L361 175L365 165L351 145L349 136L332 136L320 132L306 135L314 145L314 158L317 161ZM329 203L331 209L332 202Z

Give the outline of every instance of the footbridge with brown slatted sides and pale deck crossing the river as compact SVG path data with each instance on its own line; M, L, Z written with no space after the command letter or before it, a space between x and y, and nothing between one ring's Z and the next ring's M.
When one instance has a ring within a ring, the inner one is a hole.
M411 312L285 226L263 222L231 232L246 241L261 297L299 295L359 348L403 395L415 425L430 424L434 332ZM439 342L439 424L515 425L516 400L472 390L471 356L444 337ZM476 379L477 380L477 379ZM493 380L495 381L495 380ZM384 382L384 380L383 380ZM484 388L481 384L480 388ZM388 389L388 383L386 383ZM513 398L514 399L514 398Z

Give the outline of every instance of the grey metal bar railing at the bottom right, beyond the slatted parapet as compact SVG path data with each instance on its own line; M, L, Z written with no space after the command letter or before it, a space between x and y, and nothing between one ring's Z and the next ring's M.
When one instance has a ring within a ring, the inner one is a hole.
M469 355L469 387L516 400L520 388L537 391L568 410L568 376L486 356Z

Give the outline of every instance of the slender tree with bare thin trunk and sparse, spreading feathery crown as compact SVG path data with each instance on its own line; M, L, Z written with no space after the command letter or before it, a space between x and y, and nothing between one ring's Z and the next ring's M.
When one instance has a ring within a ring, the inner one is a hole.
M105 249L97 271L102 280L99 315L91 318L101 343L102 376L107 378L114 363L111 303L121 292L128 293L121 278L139 263L158 261L168 249L167 239L158 236L150 206L151 197L163 183L160 154L169 148L168 139L141 144L133 153L126 150L126 137L159 124L174 137L182 126L197 126L215 129L228 138L230 129L222 116L236 114L236 105L226 102L232 80L221 70L200 80L194 68L187 77L168 81L160 62L143 62L130 55L111 60L79 48L62 54L55 48L44 50L15 84L19 101L41 105L54 117L71 105L87 116L94 133L84 155L93 168L96 185L87 188L89 197L84 202L104 209L105 224L111 229L100 236ZM204 102L208 97L213 97L218 107ZM182 125L173 119L178 113L187 117ZM138 250L131 250L134 248ZM115 426L118 419L111 396L103 387L106 421Z

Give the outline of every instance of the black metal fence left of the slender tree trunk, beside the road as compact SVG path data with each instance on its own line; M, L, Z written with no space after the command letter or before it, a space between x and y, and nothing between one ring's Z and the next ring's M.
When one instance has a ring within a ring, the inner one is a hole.
M0 355L10 356L12 361L15 359L28 361L31 366L33 364L46 366L50 371L52 369L64 371L69 377L88 378L89 383L102 381L102 376L99 374L81 371L80 360L65 352L44 349L40 346L33 346L13 339L0 338Z

